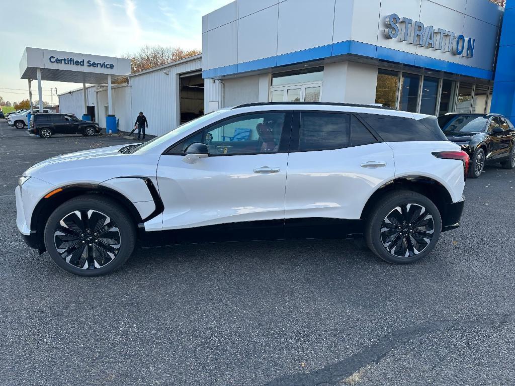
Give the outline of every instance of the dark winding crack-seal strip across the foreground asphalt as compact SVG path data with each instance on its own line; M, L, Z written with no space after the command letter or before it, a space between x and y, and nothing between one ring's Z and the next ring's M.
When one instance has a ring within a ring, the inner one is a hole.
M471 320L436 321L400 328L377 339L372 344L342 361L322 367L311 373L299 373L272 379L265 386L317 386L321 384L338 385L341 380L370 363L379 363L388 353L403 341L418 335L464 328L471 326L500 327L513 320L512 314L485 315Z

